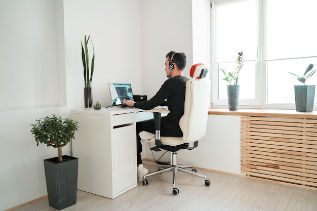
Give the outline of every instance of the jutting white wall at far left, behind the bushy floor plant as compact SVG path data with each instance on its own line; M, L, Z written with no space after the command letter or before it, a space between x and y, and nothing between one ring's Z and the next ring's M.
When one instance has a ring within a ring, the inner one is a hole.
M60 107L66 94L55 12L52 0L0 1L0 210L47 194L43 159L56 157L57 149L37 147L30 124L52 113L70 116ZM71 145L63 153L71 154Z

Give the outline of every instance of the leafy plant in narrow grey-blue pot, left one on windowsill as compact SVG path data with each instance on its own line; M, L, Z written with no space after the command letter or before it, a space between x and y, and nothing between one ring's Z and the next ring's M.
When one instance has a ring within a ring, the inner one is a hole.
M227 96L229 110L237 110L239 106L240 85L238 85L237 82L239 79L240 70L243 67L244 56L243 51L238 52L237 54L238 56L236 58L236 66L233 72L227 72L226 69L220 69L225 76L222 79L228 82ZM233 83L232 85L231 82Z

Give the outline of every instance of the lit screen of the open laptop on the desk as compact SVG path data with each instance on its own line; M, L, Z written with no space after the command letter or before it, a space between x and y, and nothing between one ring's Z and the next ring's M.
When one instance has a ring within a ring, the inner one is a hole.
M121 105L125 100L134 100L130 83L109 83L112 105Z

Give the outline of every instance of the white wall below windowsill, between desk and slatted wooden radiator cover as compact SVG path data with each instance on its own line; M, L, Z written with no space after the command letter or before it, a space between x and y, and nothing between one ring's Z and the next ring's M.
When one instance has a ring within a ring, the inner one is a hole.
M178 151L178 163L230 174L241 174L240 121L240 116L209 115L206 136L199 140L197 148ZM148 143L143 143L143 148L143 156L148 159L158 159L165 152L164 150L151 152ZM166 153L161 161L170 161L170 159L170 153Z

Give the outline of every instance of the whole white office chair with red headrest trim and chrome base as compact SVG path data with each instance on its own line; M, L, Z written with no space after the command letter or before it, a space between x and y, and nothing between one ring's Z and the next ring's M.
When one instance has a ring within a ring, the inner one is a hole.
M172 153L171 165L165 168L159 168L156 172L147 174L143 177L143 185L148 184L147 177L152 175L162 174L168 171L173 171L173 193L179 193L176 188L176 173L182 171L205 179L205 185L209 186L210 181L207 177L196 172L193 166L178 166L177 165L177 151L181 149L191 150L197 147L198 140L203 138L206 134L210 86L211 82L205 78L209 68L204 64L195 64L190 68L190 76L193 78L186 82L185 92L185 107L184 114L181 117L179 124L183 132L183 137L161 137L161 113L168 113L166 109L151 109L146 112L153 112L155 120L155 135L142 131L140 137L144 142L155 143L155 147L151 150L161 151L164 149ZM189 143L193 143L192 147ZM191 171L186 168L191 167Z

